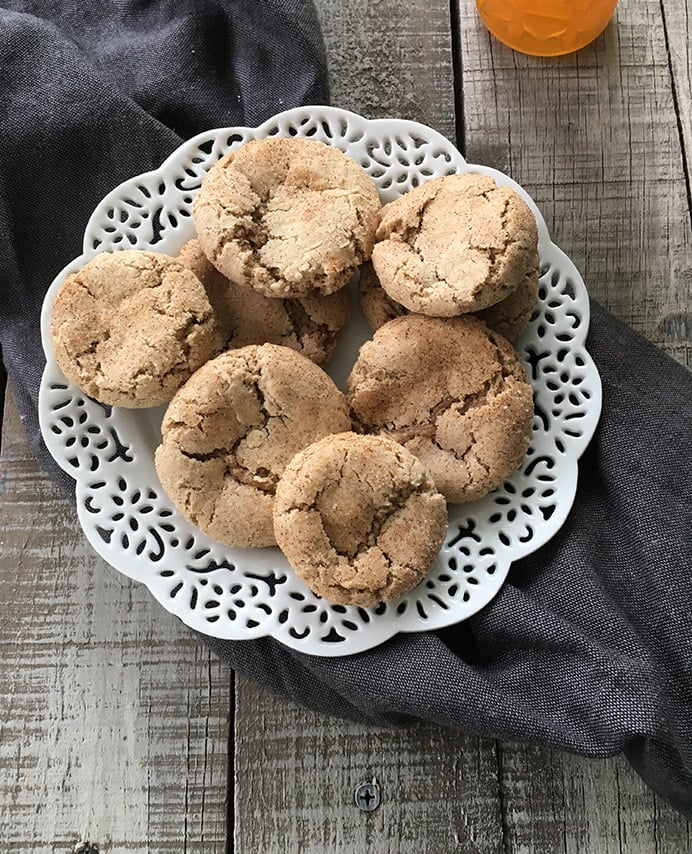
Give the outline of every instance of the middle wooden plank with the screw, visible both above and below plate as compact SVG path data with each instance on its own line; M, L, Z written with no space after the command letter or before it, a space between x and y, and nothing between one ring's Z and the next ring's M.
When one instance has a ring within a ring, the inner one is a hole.
M425 122L454 138L449 3L318 0L332 103ZM235 850L502 852L495 743L433 726L327 718L236 682ZM360 811L375 775L383 801Z

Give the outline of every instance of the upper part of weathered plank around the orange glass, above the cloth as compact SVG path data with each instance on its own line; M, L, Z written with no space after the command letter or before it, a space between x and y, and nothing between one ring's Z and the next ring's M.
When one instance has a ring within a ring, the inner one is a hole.
M528 190L592 296L691 364L690 211L658 0L622 2L594 44L557 59L514 53L460 8L467 156Z

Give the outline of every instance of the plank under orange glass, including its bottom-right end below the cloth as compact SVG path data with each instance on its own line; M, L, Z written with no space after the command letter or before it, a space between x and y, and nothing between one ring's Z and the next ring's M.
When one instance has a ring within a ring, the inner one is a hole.
M621 4L592 46L543 60L461 5L466 150L533 195L591 293L690 364L685 168L657 2ZM688 822L627 762L503 743L506 850L688 851Z

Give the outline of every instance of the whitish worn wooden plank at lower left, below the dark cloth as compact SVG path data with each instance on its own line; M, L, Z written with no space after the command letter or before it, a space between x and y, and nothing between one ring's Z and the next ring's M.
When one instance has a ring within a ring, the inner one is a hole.
M3 439L0 851L225 851L228 672Z

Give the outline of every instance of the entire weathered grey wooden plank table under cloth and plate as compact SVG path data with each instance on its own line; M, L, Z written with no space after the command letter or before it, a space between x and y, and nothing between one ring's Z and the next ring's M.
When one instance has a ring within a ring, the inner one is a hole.
M689 364L687 0L621 0L595 44L553 60L494 42L472 0L317 5L334 104L425 122L510 173L591 293ZM356 726L234 677L92 554L11 394L0 525L0 852L692 850L623 759ZM364 813L373 775L383 801Z

